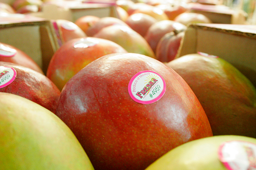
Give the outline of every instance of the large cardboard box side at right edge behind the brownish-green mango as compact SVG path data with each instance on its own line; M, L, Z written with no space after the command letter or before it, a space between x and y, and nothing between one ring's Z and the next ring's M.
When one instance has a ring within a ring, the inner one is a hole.
M256 26L191 24L176 57L198 51L225 59L256 86Z

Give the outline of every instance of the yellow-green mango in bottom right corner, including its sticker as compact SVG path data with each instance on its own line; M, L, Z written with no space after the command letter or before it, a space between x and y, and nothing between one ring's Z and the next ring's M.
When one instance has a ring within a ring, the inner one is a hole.
M228 147L231 149L223 149ZM241 148L244 148L244 150ZM256 139L237 135L220 135L196 139L170 150L145 170L235 170L231 165L234 163L240 166L239 170L243 170L241 164L249 166L246 168L249 170L249 168L255 166L255 155L250 154L245 148L249 148L249 151L256 151ZM227 153L230 153L232 159L223 156ZM239 157L238 160L233 159L236 156ZM229 160L225 164L230 169L227 169L224 165L224 162L226 162L224 158Z

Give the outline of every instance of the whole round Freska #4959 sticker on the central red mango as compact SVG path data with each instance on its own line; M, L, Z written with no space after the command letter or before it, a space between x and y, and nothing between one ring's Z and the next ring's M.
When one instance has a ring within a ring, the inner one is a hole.
M160 74L146 70L135 74L129 84L131 98L141 104L150 104L159 100L166 91L166 82Z

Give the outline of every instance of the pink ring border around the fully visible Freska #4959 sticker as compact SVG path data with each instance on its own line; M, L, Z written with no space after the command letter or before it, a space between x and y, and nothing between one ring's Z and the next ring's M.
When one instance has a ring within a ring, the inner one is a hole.
M157 74L162 80L163 80L163 91L159 94L159 96L157 96L155 99L152 99L152 100L149 100L149 101L141 101L141 100L138 100L134 97L134 95L132 94L131 92L131 85L132 85L132 82L134 81L134 79L140 75L140 74L143 74L145 72L151 72L151 73L154 73L154 74ZM129 95L131 96L131 98L135 101L135 102L138 102L138 103L141 103L141 104L151 104L151 103L154 103L156 101L158 101L159 99L161 99L163 97L163 95L165 94L166 92L166 82L165 80L163 79L163 77L158 74L157 72L155 71L151 71L151 70L145 70L145 71L140 71L138 72L137 74L135 74L133 77L131 77L130 79L130 82L128 84L128 93Z

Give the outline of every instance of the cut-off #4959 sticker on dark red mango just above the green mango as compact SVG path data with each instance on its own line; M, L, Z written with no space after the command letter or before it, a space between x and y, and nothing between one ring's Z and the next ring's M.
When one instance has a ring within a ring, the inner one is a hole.
M0 88L11 84L16 78L17 72L14 68L0 66Z

